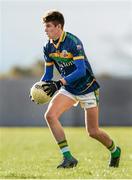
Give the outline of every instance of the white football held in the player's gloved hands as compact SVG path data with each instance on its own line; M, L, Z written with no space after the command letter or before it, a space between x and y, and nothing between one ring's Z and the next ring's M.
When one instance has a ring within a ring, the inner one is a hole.
M37 104L45 104L51 100L51 97L44 92L42 85L45 84L44 81L36 82L30 89L31 100Z

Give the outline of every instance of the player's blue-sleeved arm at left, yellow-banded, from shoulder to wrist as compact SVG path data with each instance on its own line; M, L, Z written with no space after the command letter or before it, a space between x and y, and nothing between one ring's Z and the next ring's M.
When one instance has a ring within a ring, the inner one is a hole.
M41 81L50 81L53 78L54 61L49 57L46 47L43 48L44 60L45 60L45 73L41 78Z

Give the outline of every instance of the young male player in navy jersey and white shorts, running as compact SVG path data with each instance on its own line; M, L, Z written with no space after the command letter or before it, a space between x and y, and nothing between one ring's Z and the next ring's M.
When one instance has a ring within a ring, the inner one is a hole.
M78 160L69 150L59 117L72 106L80 103L85 112L86 130L90 137L101 142L110 151L110 167L118 167L121 150L109 135L99 128L99 84L92 72L83 44L78 37L64 31L64 17L58 11L49 11L43 17L49 41L44 47L46 81L44 91L53 96L45 113L46 122L60 148L63 161L57 168L72 168ZM61 79L53 81L53 68Z

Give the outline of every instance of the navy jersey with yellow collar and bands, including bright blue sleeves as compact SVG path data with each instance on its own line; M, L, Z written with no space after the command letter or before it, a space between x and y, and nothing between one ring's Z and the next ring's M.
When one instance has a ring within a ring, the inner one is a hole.
M81 95L99 88L79 38L62 32L57 41L49 40L44 47L45 74L42 81L53 78L55 66L67 84L64 88L72 94Z

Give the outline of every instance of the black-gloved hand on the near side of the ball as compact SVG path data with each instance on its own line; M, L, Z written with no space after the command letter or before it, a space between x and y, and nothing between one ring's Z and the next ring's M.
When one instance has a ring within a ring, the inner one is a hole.
M59 81L46 81L46 84L43 84L43 90L47 93L48 96L52 97L56 91L58 91L63 83Z

